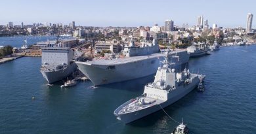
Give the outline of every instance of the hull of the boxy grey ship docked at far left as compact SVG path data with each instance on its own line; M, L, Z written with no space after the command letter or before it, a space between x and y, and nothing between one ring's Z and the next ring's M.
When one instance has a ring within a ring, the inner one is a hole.
M75 71L76 68L77 68L77 65L75 63L71 63L64 70L40 71L40 72L42 73L43 78L45 78L45 80L47 80L49 84L53 84L54 82L57 82L59 80L62 80L63 78L70 76Z

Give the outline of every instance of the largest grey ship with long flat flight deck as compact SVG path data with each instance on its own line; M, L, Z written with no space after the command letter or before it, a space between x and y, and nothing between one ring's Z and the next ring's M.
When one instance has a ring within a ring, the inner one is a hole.
M169 50L168 55L173 57L169 59L175 62L177 69L184 67L189 59L186 50ZM125 45L122 56L75 63L79 70L98 86L154 75L164 54L160 52L158 41L153 39L152 42L142 42L140 46L135 46L131 41Z

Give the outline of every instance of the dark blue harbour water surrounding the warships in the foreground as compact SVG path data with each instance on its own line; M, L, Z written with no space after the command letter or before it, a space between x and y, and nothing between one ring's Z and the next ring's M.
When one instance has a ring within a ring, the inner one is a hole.
M0 133L171 133L178 125L161 110L129 125L116 120L114 110L153 76L61 89L61 82L47 86L40 65L29 57L0 65ZM256 46L221 48L189 66L207 75L205 92L194 90L165 111L183 118L190 133L256 133Z

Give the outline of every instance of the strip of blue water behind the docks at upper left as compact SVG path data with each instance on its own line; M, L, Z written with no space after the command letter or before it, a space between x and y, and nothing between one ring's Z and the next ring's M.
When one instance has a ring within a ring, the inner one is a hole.
M66 39L72 37L60 37L60 39ZM54 41L56 40L56 36L15 36L15 37L0 37L0 46L7 46L11 45L13 47L20 48L22 45L25 44L24 41L27 41L27 45L36 44L39 41Z

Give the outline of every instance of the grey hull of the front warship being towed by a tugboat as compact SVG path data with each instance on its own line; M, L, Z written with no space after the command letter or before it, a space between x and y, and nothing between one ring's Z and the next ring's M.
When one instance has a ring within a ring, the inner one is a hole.
M189 84L185 88L182 88L182 89L180 88L180 89L177 89L177 90L171 92L168 95L169 99L167 101L164 101L163 103L156 104L156 105L154 105L152 107L148 107L146 109L137 110L135 112L129 112L126 114L117 114L116 111L118 111L120 109L120 108L117 108L117 110L115 110L114 114L117 116L118 120L121 120L125 124L129 124L131 122L134 122L135 120L139 120L140 118L143 118L144 116L148 116L149 114L152 114L158 110L161 110L162 108L168 107L169 105L175 103L176 101L178 101L179 99L181 99L182 97L184 97L185 95L190 93L192 90L194 90L194 88L196 88L196 86L198 86L198 82L199 82L199 79L196 78L192 81L191 84ZM129 101L127 101L127 103L129 103ZM124 105L127 103L124 103Z

